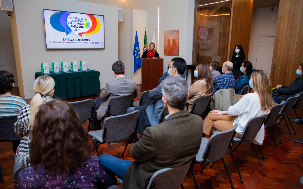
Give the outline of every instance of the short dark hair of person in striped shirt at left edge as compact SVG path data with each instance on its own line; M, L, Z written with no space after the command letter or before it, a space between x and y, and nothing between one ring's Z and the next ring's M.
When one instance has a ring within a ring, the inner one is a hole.
M0 94L14 90L12 83L15 83L14 75L5 70L0 71Z

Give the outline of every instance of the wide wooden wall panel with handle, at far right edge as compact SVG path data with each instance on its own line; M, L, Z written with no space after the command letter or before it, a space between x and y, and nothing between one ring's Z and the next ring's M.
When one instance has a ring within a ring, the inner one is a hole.
M274 58L276 58L275 69ZM271 62L272 86L290 85L303 63L303 1L280 0L274 53ZM300 109L303 109L301 105Z

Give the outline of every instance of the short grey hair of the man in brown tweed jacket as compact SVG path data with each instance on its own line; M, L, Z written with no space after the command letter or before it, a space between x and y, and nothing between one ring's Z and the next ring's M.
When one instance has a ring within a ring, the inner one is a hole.
M182 77L168 76L163 80L162 94L169 106L184 110L188 98L188 84Z

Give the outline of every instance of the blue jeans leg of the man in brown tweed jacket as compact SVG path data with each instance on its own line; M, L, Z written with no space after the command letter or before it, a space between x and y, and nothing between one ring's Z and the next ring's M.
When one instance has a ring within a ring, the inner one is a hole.
M99 160L104 168L108 186L118 185L115 175L123 179L126 169L133 162L129 160L122 160L108 154L101 155Z

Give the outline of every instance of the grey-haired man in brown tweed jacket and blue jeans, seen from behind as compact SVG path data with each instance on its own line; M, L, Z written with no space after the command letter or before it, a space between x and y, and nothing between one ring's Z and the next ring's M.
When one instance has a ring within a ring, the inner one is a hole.
M142 138L129 148L135 161L108 154L99 157L109 185L117 184L117 175L123 179L122 188L146 188L156 171L184 165L197 155L203 122L200 116L190 114L185 108L188 98L186 80L167 77L161 84L161 99L169 115L165 122L147 127Z

